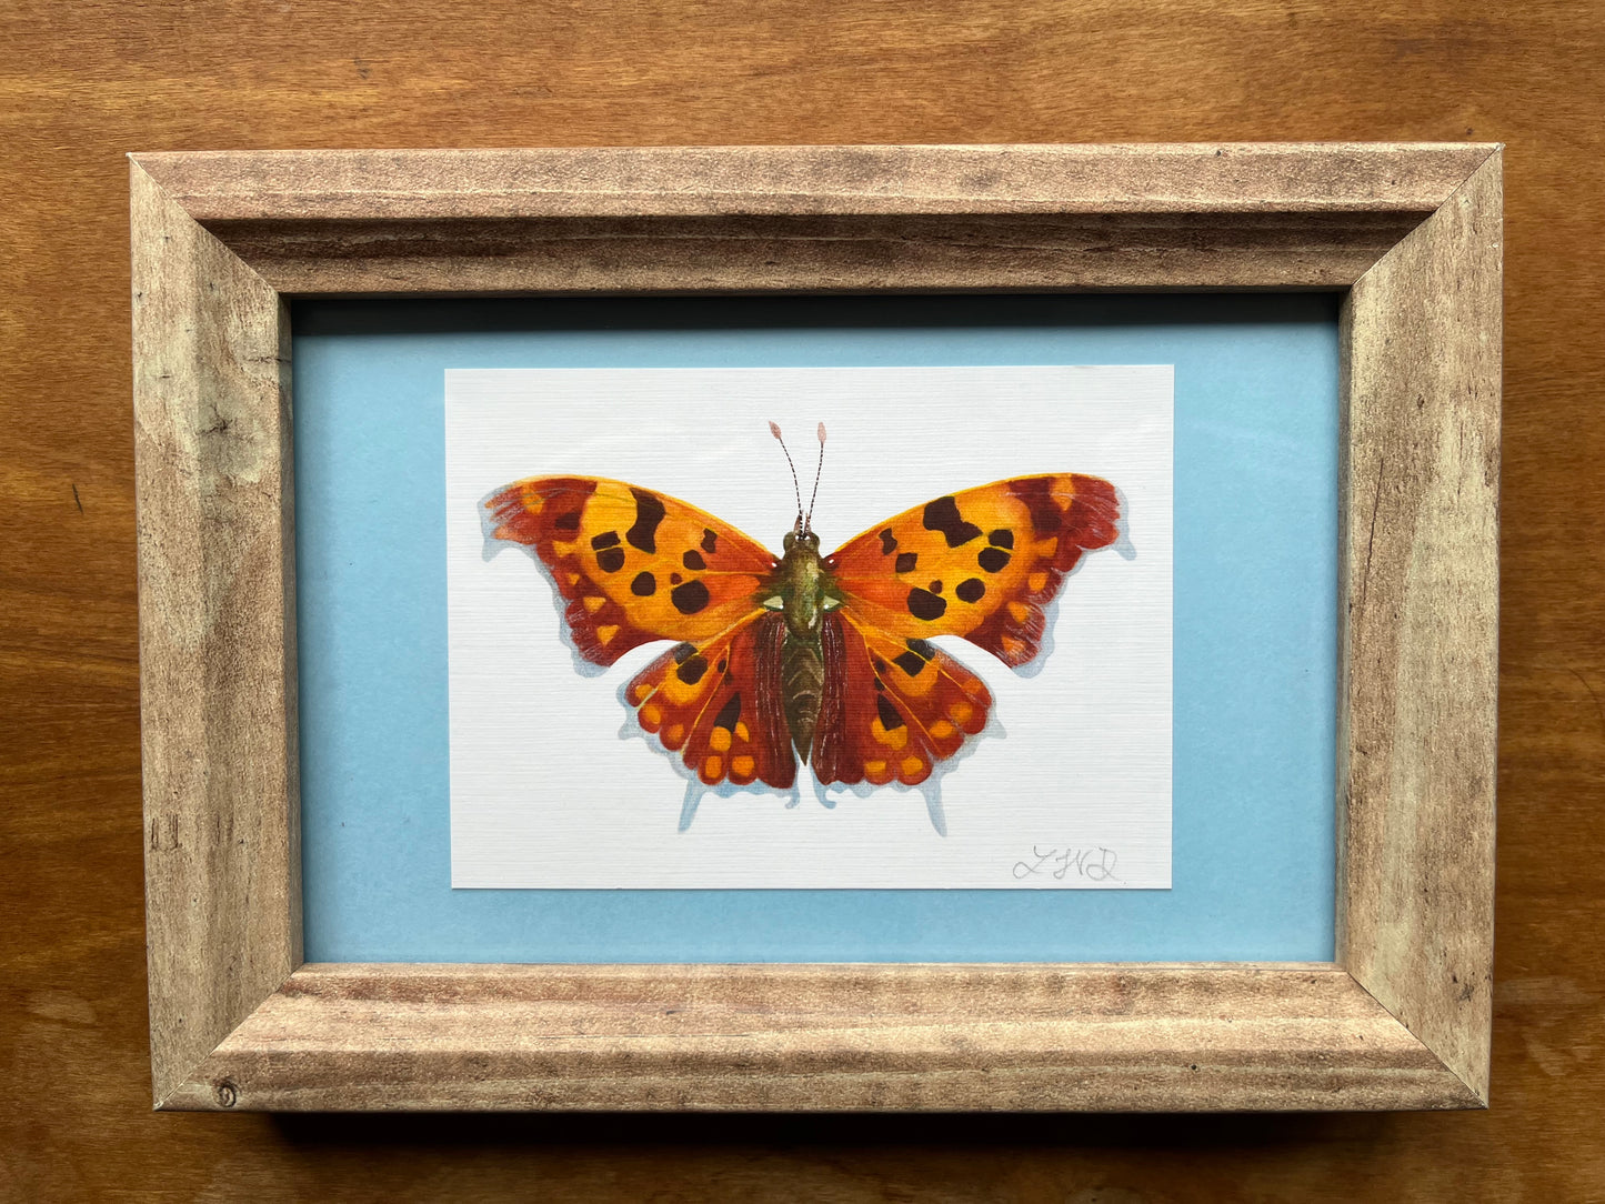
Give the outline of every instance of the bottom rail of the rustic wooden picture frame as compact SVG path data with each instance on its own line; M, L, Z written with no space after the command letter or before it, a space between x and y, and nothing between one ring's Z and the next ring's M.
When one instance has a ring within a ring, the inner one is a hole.
M1326 963L311 965L164 1106L1361 1111L1477 1096Z

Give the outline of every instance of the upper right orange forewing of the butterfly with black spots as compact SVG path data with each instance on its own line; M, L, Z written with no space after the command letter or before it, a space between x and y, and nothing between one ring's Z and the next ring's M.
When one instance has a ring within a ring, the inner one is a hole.
M1043 608L1085 552L1119 536L1120 502L1098 477L1018 477L904 510L825 560L862 629L963 636L1005 665L1042 647Z

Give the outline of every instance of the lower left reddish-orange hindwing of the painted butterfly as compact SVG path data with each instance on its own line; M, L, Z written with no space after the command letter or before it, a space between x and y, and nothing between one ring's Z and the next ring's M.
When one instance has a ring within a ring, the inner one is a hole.
M796 758L780 698L785 620L759 613L701 644L677 644L624 687L640 726L705 785L785 790Z

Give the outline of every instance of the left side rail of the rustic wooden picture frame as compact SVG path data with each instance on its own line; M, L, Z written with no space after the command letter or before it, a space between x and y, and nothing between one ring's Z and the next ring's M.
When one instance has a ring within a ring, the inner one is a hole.
M295 485L284 302L138 167L130 191L160 1095L302 960ZM191 990L213 958L226 973Z

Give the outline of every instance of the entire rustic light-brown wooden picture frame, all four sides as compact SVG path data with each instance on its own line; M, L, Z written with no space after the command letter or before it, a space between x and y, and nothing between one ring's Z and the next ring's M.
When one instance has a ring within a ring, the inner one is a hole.
M1501 151L136 154L157 1108L1488 1100ZM1287 965L303 965L286 297L1329 289L1339 929Z

